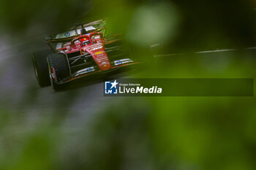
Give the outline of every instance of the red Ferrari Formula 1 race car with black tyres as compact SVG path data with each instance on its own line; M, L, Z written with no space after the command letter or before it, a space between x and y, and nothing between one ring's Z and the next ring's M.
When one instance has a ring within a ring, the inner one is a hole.
M32 56L40 87L62 85L89 74L111 72L138 63L128 46L116 36L105 37L105 20L81 23L47 39L50 47Z

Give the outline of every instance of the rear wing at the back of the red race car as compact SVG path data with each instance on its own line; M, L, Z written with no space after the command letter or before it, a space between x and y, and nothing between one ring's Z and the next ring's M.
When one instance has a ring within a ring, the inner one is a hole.
M105 30L105 20L96 20L91 23L78 23L75 27L71 28L69 31L65 31L59 34L53 34L49 37L46 37L47 42L63 42L69 39L75 38L75 36L80 36L82 29L86 33L93 31L102 31ZM104 34L104 33L103 33Z

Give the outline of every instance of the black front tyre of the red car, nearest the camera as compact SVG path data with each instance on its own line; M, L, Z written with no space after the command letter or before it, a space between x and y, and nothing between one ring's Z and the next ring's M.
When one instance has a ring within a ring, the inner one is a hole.
M61 80L70 76L69 63L67 58L62 53L53 53L48 55L49 73L53 74L54 69L55 76L50 75L51 82L54 90L61 90L63 85L59 84Z

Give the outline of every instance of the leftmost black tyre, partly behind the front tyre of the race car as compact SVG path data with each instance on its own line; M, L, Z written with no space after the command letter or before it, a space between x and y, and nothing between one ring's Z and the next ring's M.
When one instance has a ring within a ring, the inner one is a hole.
M40 87L46 87L50 85L47 57L51 53L54 53L54 51L48 49L36 52L32 55L34 74L37 77L37 82Z

